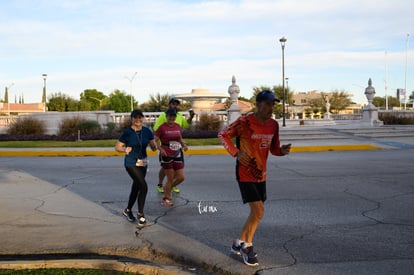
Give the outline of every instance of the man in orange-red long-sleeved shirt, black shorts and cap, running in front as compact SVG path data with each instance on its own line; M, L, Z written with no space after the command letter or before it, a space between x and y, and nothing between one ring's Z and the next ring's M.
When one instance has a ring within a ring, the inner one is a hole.
M249 217L231 251L242 255L244 263L250 266L259 265L253 252L253 237L264 215L269 152L276 156L290 152L290 144L280 146L279 124L272 119L275 102L279 100L271 91L261 91L256 96L256 112L239 117L218 135L228 153L237 158L237 182L243 203L250 206ZM236 144L232 138L236 138Z

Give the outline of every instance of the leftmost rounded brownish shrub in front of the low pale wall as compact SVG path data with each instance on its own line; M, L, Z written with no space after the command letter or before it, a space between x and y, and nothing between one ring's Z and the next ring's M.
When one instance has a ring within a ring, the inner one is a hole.
M9 135L44 135L45 134L45 124L43 121L37 120L30 116L19 117L16 121L9 125L7 133Z

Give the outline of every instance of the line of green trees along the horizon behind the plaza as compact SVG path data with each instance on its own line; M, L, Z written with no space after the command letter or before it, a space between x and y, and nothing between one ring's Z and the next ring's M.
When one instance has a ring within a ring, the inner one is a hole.
M293 92L286 88L286 99L285 102L289 106L294 105L293 102ZM269 87L269 86L258 86L253 87L252 96L250 98L239 97L239 100L248 101L254 103L257 93L262 90L271 90L276 94L276 97L279 99L283 98L283 87L281 85ZM345 110L348 106L353 104L351 100L351 95L345 91L334 90L329 93L321 92L320 98L316 98L308 102L308 109L312 112L320 111L326 112L326 100L327 96L330 103L330 112L339 113L342 110ZM96 89L86 89L80 94L80 100L77 100L71 96L68 96L64 93L53 93L49 95L46 106L48 111L58 111L58 112L70 112L70 111L97 111L97 110L113 110L117 113L126 113L131 111L131 101L132 107L140 108L144 112L162 112L168 108L168 102L171 95L167 94L154 94L150 95L148 101L139 104L135 98L121 90L114 90L109 95L105 95L103 92ZM414 97L414 92L410 96ZM230 98L225 101L225 107L228 108L231 104ZM378 108L385 108L385 98L375 97L373 104ZM388 97L388 107L399 107L400 103L396 97ZM190 103L183 102L180 106L182 111L188 110L191 108ZM275 113L280 114L282 112L282 105L276 104Z

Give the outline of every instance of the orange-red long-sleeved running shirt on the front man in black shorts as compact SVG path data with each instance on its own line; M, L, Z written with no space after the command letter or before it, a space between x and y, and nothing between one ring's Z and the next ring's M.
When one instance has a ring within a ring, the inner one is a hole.
M239 182L266 181L266 163L269 152L283 156L280 151L279 124L268 119L264 124L256 120L255 115L239 117L235 122L218 134L227 152L233 157L239 151L246 152L252 159L249 166L237 161L236 176ZM236 138L236 145L232 142Z

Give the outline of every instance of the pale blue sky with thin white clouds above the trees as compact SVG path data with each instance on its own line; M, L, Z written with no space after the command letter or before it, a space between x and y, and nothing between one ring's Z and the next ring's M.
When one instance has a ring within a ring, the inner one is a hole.
M119 89L143 103L227 93L235 76L250 98L282 85L284 56L290 91L366 104L369 78L376 96L414 91L413 10L407 0L0 1L0 87L10 102L41 102L47 74L48 96Z

